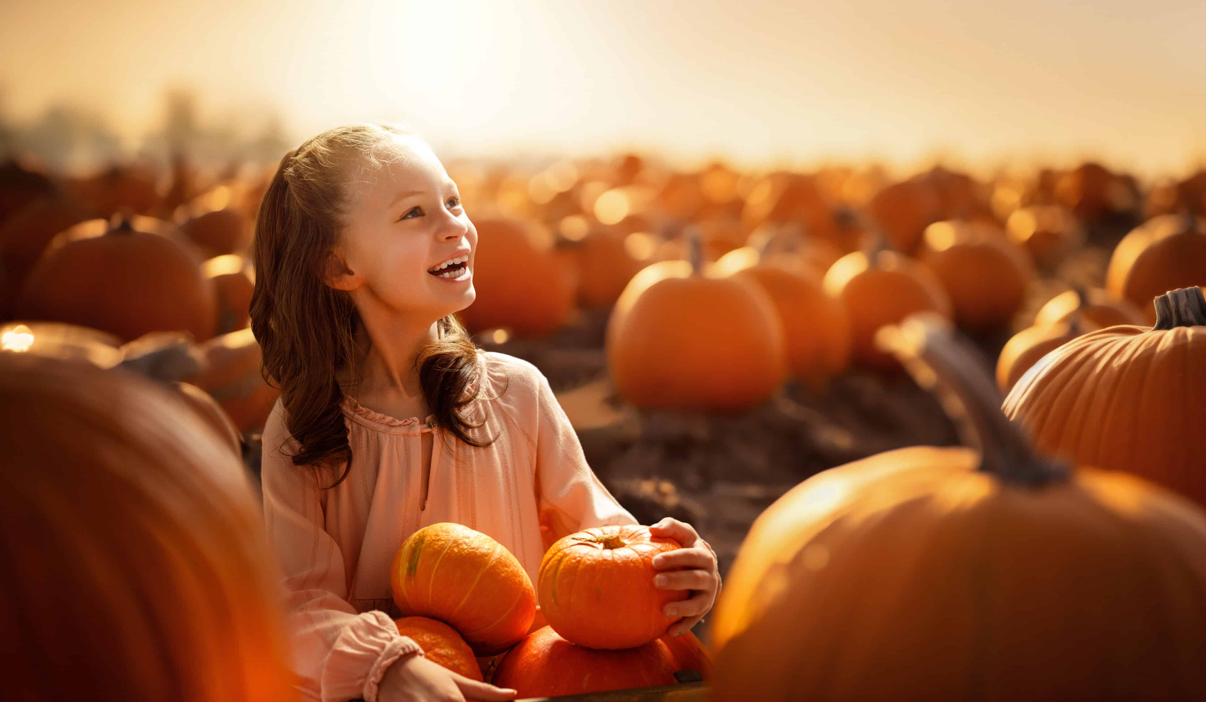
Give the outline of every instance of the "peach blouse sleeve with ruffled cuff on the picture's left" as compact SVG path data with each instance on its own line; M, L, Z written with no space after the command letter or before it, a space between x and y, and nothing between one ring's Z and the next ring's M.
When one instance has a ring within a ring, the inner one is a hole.
M281 412L277 403L264 426L262 477L264 523L285 572L294 672L322 702L375 702L386 668L423 651L385 612L357 614L347 603L344 555L323 529L321 489L314 471L286 455L298 446Z

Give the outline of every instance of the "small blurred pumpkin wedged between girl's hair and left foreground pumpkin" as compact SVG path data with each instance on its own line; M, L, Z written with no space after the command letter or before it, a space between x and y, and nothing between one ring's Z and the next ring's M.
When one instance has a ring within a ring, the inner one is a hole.
M252 330L216 336L198 350L205 359L204 368L188 382L217 400L240 431L263 427L281 391L260 373L263 354Z

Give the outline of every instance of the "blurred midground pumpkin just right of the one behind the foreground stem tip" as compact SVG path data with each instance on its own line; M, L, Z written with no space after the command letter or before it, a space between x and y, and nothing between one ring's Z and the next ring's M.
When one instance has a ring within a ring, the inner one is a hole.
M995 229L959 220L925 229L920 261L942 281L955 321L972 331L1009 326L1035 275L1025 254Z

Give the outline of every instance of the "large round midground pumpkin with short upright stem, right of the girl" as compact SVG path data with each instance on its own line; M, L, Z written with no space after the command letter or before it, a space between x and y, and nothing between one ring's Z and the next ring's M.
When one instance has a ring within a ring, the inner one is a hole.
M689 241L690 261L652 264L616 300L607 329L611 381L643 408L765 402L786 374L774 302L749 281L708 275L698 236Z

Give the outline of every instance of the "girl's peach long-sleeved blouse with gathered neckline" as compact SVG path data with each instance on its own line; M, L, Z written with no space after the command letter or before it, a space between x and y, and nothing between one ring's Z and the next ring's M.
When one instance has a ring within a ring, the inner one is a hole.
M463 409L497 437L474 448L417 417L394 419L344 397L352 466L294 466L298 444L277 402L264 426L264 521L281 559L294 672L305 700L376 700L386 667L421 653L398 633L390 564L412 532L438 521L481 531L515 554L535 584L545 543L591 526L636 524L598 480L548 379L532 364L479 352L475 400ZM481 381L485 382L481 382ZM421 433L434 431L427 505ZM282 450L283 449L283 450Z

